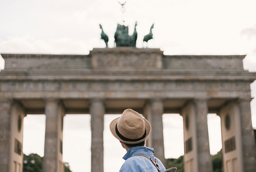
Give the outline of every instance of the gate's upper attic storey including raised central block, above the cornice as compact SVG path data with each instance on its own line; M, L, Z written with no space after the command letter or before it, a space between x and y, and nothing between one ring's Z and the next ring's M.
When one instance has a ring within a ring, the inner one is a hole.
M244 55L163 55L160 49L94 48L89 55L1 54L5 70L240 70Z

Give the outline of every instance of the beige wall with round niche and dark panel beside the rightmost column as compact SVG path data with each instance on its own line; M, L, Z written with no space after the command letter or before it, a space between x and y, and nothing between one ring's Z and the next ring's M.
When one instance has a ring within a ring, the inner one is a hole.
M244 171L240 110L237 100L218 113L221 121L222 155L226 171Z

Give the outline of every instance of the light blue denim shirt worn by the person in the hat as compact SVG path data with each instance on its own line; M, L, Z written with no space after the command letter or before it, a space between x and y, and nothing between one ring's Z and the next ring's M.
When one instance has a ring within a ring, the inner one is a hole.
M157 172L156 167L148 158L144 156L134 156L138 153L145 154L155 160L153 148L148 148L145 146L132 147L124 155L123 159L125 162L123 163L119 172ZM165 167L162 162L158 158L157 161L161 172L165 171Z

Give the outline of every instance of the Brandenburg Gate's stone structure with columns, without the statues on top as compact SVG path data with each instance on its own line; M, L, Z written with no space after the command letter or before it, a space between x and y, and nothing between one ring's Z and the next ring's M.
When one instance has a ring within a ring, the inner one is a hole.
M103 115L131 108L152 124L147 145L164 162L162 114L184 121L186 172L212 172L207 114L221 119L223 170L255 172L245 56L167 56L159 49L94 48L89 55L2 54L0 171L21 172L23 118L45 114L44 172L62 172L65 114L91 114L91 171L103 172ZM170 143L169 146L172 146Z

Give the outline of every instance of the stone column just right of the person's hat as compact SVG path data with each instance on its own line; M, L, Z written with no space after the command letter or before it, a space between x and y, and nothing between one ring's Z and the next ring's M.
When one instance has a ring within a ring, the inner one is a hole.
M164 157L164 134L163 134L163 120L162 115L164 113L164 104L161 99L151 100L151 134L152 142L154 148L154 155L161 160L161 162L166 165Z

